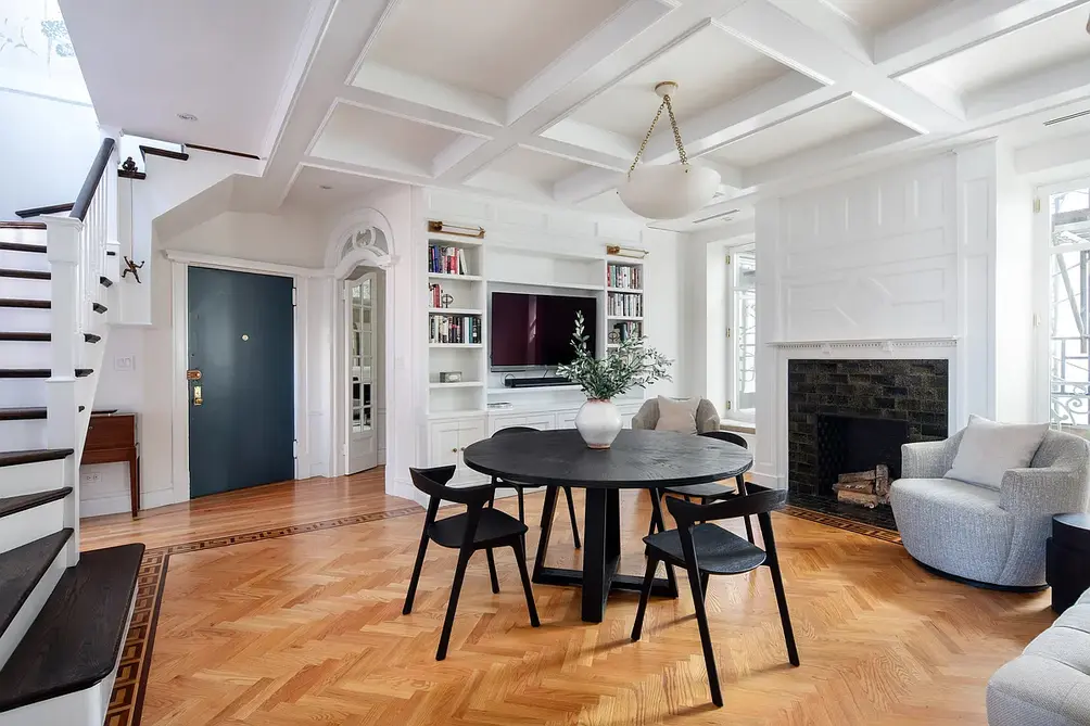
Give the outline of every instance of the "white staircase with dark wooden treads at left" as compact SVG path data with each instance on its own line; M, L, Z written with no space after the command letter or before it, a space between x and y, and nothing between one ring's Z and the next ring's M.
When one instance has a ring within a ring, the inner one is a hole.
M80 553L119 277L112 138L70 213L0 222L0 726L101 726L144 545Z

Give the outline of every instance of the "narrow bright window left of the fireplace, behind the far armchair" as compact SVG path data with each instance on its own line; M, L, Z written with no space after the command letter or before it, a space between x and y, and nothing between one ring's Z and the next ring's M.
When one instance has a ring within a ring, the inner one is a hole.
M726 418L752 421L756 408L756 254L752 249L730 254L731 316L728 351L734 365L730 413Z

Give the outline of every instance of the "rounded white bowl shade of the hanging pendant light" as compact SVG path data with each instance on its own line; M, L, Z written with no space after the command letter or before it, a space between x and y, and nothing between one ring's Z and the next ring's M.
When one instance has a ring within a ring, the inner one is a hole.
M719 172L695 164L638 166L618 190L626 207L649 219L677 219L715 195Z

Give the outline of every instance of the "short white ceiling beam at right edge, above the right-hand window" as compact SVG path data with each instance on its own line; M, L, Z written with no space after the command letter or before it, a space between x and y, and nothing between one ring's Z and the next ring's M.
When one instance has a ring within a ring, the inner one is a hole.
M1080 58L966 96L972 120L1042 105L1058 106L1090 96L1090 59Z

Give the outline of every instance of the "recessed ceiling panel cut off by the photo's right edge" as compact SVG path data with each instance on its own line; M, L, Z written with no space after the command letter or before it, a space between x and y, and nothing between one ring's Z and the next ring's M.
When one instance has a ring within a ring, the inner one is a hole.
M1086 8L1061 13L924 66L921 75L942 78L966 93L1076 58L1090 57ZM911 85L916 74L904 81Z

